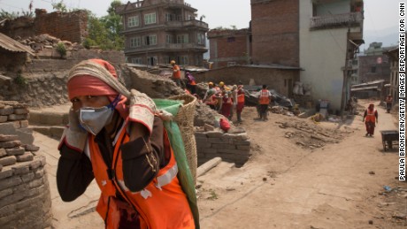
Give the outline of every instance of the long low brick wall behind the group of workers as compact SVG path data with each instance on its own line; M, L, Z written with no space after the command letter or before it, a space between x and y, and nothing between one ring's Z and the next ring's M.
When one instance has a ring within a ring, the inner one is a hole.
M268 88L275 89L282 95L291 96L288 82L294 84L299 80L299 70L283 70L276 68L262 68L249 66L231 66L210 70L204 73L194 73L197 82L225 82L227 85L238 84L239 80L243 85L248 85L253 79L256 85L268 85Z

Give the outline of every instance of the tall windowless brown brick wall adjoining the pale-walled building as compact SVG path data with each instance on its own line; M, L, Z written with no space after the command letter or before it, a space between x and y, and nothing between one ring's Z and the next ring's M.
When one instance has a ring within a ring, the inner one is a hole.
M299 0L251 0L255 65L299 66Z

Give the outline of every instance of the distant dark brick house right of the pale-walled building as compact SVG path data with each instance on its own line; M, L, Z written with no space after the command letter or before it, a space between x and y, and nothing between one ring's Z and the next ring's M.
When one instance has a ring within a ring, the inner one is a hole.
M390 62L386 55L360 56L359 58L359 83L385 80L390 82ZM381 58L381 63L378 63Z

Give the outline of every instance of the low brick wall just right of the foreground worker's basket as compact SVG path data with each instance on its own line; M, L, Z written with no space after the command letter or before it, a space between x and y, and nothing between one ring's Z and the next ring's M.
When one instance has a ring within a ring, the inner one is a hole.
M250 158L250 140L245 132L227 134L218 130L196 131L195 139L198 166L217 156L236 166L242 166Z

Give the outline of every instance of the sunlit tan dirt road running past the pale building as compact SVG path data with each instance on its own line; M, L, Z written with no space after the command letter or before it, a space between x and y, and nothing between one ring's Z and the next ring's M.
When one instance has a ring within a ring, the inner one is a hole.
M378 104L373 137L365 137L361 116L343 125L280 114L262 122L254 108L245 108L242 127L253 155L241 168L198 179L202 228L406 228L407 185L395 179L398 151L384 152L380 136L396 126ZM289 137L297 129L281 128L296 121L342 139L306 148Z

